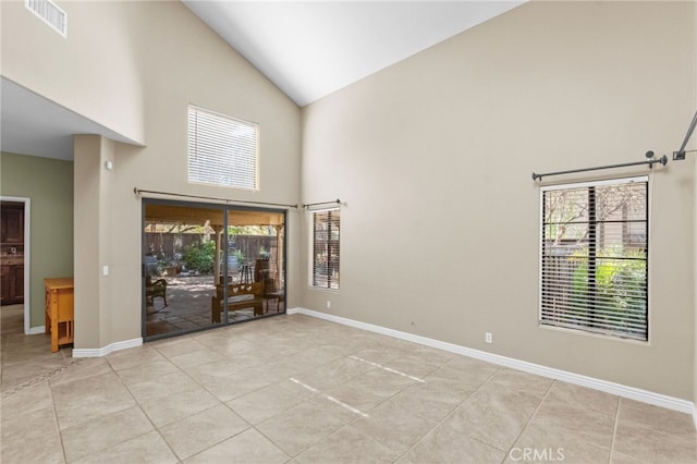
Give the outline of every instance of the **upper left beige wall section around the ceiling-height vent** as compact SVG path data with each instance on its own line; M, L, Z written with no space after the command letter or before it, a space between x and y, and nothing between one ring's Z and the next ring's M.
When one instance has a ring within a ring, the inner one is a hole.
M64 38L26 10L0 2L2 75L136 143L145 142L142 53L146 17L118 1L63 1Z

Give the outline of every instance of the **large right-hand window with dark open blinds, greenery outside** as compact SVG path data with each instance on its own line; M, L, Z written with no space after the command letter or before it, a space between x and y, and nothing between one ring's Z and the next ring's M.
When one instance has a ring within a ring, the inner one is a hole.
M541 191L541 323L648 340L648 180Z

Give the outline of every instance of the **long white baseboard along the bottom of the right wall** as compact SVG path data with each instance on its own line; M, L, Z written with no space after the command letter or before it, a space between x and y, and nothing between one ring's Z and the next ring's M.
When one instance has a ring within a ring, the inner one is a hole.
M380 326L374 326L372 323L360 322L357 320L347 319L344 317L334 316L334 315L320 313L311 309L306 309L302 307L289 309L286 313L303 314L306 316L316 317L318 319L325 319L331 322L355 327L356 329L368 330L370 332L381 333L383 335L393 337L395 339L406 340L408 342L414 342L421 345L448 351L451 353L461 354L463 356L474 357L476 359L485 361L487 363L496 364L499 366L505 366L512 369L523 370L525 373L535 374L538 376L548 377L555 380L562 380L568 383L574 383L580 387L603 391L606 393L615 394L617 396L628 398L631 400L640 401L643 403L665 407L668 410L692 414L693 418L695 419L695 427L697 427L697 407L695 406L695 403L687 400L681 400L678 398L668 396L661 393L655 393L655 392L641 390L634 387L627 387L620 383L610 382L607 380L596 379L592 377L570 373L566 370L554 369L551 367L541 366L539 364L514 359L512 357L487 353L479 350L473 350L465 346L456 345L454 343L448 343L448 342L442 342L440 340L428 339L426 337L415 335L413 333L407 333L407 332L401 332L399 330L388 329L386 327L380 327Z

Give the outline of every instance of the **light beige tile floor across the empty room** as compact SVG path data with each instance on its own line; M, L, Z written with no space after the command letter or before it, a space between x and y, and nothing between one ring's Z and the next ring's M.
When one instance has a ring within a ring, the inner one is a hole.
M77 362L42 339L2 340L3 464L697 462L686 414L302 315Z

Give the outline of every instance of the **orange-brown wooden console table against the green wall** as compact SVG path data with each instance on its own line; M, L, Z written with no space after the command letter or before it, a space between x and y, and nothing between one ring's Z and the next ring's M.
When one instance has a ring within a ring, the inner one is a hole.
M51 334L51 351L60 345L73 343L74 284L72 277L44 279L46 288L46 333Z

